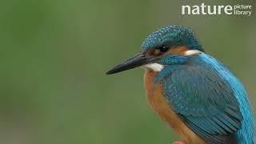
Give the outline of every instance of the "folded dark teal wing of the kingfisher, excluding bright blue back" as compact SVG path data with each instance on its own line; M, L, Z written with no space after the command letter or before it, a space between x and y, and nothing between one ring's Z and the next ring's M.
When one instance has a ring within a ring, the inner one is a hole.
M162 80L164 95L186 126L210 143L234 141L242 114L228 82L209 66L178 65Z

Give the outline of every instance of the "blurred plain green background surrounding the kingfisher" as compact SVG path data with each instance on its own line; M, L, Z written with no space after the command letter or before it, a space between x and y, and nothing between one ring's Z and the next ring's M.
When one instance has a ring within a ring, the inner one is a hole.
M150 110L143 70L106 76L153 30L192 27L234 71L255 107L255 9L250 17L181 15L186 4L255 1L10 0L0 5L1 144L171 143Z

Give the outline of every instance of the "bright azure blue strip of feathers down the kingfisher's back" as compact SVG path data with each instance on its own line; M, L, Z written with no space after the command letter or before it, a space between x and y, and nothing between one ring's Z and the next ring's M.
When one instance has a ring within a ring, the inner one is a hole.
M234 97L238 100L239 108L242 113L242 127L235 134L238 143L253 143L254 142L254 115L251 110L250 102L246 94L246 90L242 86L242 83L222 64L220 64L215 58L202 55L202 58L206 60L206 63L212 65L218 70L220 76L229 83L231 90L233 90ZM223 67L222 67L223 66Z

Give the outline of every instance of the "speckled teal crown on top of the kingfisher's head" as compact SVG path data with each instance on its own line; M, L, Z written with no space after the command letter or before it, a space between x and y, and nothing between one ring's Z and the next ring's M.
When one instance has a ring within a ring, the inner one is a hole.
M142 50L150 50L163 45L187 46L191 50L204 51L194 31L185 26L166 26L154 31L142 43Z

